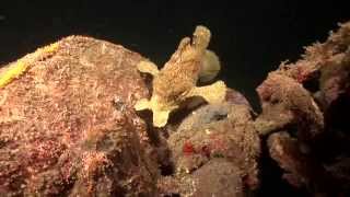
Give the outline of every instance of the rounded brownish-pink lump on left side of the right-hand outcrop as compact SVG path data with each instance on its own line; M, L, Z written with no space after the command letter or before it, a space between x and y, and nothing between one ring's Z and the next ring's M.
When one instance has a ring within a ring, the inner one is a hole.
M324 116L312 94L292 78L270 73L257 92L262 113L255 121L260 134L296 125L302 140L314 140L324 128Z

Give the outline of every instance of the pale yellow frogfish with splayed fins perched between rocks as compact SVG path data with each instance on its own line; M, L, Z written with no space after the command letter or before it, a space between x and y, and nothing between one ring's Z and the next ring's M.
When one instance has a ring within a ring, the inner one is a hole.
M164 127L170 113L179 108L187 99L200 96L210 104L224 101L226 86L223 81L196 86L198 78L209 81L220 70L219 59L207 50L210 37L211 33L207 27L197 26L192 40L189 37L183 38L175 54L160 71L150 61L138 65L140 72L150 73L154 79L151 99L138 101L135 108L151 109L155 127Z

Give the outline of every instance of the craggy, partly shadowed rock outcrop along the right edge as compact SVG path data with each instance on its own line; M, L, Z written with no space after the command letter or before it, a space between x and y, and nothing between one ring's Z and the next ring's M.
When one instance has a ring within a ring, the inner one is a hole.
M277 132L268 137L269 152L291 185L349 196L350 22L305 49L257 89L262 113L255 126L264 135Z

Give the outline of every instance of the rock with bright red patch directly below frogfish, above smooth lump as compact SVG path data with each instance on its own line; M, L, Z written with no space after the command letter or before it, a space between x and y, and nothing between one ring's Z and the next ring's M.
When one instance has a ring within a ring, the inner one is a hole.
M225 158L249 188L258 185L260 141L247 105L206 105L171 135L168 146L179 177L196 174L209 161ZM198 188L199 189L199 188Z

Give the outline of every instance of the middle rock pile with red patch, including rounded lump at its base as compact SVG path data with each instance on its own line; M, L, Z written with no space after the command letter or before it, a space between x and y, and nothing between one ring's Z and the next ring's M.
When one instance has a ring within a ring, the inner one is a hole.
M172 194L184 196L242 196L244 188L254 189L259 184L260 141L248 105L228 102L201 106L182 121L167 141L174 174L160 179L161 193L168 194L171 187ZM215 167L217 172L212 172ZM224 189L224 183L222 187L213 186L215 179L223 178L220 167L229 167L225 172L232 190ZM208 183L209 177L213 185Z

